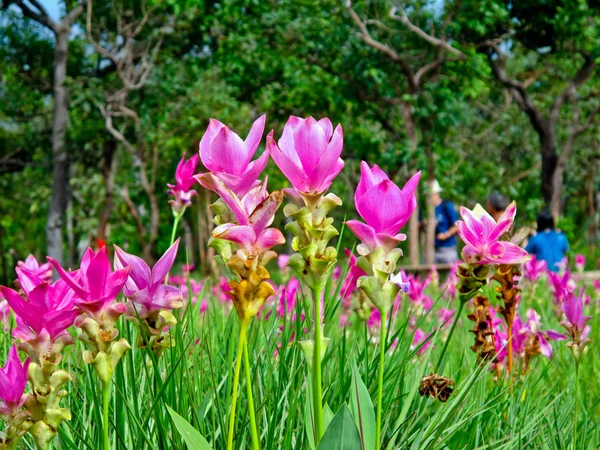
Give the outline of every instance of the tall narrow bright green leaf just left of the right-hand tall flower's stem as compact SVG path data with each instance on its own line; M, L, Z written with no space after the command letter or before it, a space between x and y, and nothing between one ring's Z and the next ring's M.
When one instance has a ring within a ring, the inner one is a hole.
M356 364L352 366L352 387L350 391L350 411L358 427L362 449L375 450L375 435L377 423L375 421L375 408L369 391L358 373Z

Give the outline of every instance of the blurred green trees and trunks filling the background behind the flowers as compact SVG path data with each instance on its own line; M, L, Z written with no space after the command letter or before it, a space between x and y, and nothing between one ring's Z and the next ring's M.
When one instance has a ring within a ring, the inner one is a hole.
M339 220L366 159L398 183L422 170L457 206L517 200L519 226L548 208L595 268L599 25L598 0L3 0L0 283L29 253L152 260L182 154L211 117L245 138L263 113L276 136L291 114L343 125ZM180 234L209 270L214 199L197 190ZM430 263L431 233L411 231L406 263Z

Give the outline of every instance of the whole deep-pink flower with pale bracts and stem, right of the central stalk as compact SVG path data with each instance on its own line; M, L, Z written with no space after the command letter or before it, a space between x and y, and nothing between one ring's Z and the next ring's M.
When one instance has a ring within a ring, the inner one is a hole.
M370 168L363 161L360 169L361 178L354 194L354 202L356 210L366 223L349 220L346 225L361 240L357 248L360 257L356 264L366 275L358 279L358 287L373 302L381 318L375 435L375 448L381 448L387 317L400 290L408 291L408 285L402 282L400 274L394 274L396 264L402 256L402 250L397 246L406 239L400 229L417 207L415 191L421 172L413 175L400 189L377 165Z

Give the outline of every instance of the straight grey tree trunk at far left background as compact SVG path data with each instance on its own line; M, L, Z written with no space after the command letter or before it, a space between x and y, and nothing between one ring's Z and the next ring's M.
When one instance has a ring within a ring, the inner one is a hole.
M70 27L61 27L56 33L53 79L54 115L52 118L52 196L46 223L46 253L60 264L64 262L62 226L67 204L67 185L69 183L68 160L65 149L68 93L64 84L67 76L70 32Z

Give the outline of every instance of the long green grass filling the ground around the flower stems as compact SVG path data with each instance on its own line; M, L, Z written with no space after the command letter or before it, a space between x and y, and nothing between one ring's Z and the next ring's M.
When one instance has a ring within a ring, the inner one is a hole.
M211 292L211 281L206 280L200 298L208 300L208 310L201 314L198 301L180 314L178 324L171 329L175 345L158 361L153 361L147 350L135 346L135 326L123 319L119 322L120 336L127 338L133 348L122 359L113 378L109 405L111 448L185 449L168 407L188 420L213 448L225 448L240 321ZM331 341L322 375L326 414L328 410L335 413L349 402L354 364L375 403L379 357L376 336L364 321L352 315L351 327L339 327L337 282L330 283L327 293L325 336ZM453 302L448 304L434 286L428 288L428 293L437 298L429 313L411 309L406 299L402 309L390 319L383 381L382 448L573 448L575 364L565 342L553 342L554 357L551 360L536 357L527 374L519 373L517 359L512 383L507 379L494 380L494 373L480 365L470 350L473 337L468 329L472 322L463 312L444 356L443 375L455 381L454 393L447 403L419 396L421 377L434 371L447 328L432 333L433 345L417 355L419 348L411 348L413 332L409 319L424 331L432 332L439 325L437 310L458 306ZM594 316L590 321L593 342L588 345L580 367L577 449L600 447L597 376L600 355L596 338L600 320L594 305L592 301L586 311ZM305 295L298 302L295 312L299 320L294 322L290 320L291 314L280 319L275 307L266 305L261 317L252 320L248 328L250 375L261 447L309 449L305 411L310 402L310 381L297 341L310 333L310 296ZM529 307L542 316L545 328L561 329L545 281L535 289L525 286L519 307L522 317ZM273 313L268 314L271 309ZM292 334L293 342L286 345ZM392 345L394 342L396 345ZM11 343L8 332L0 335L0 354L8 354ZM71 409L72 420L61 426L55 440L57 449L96 450L103 441L102 386L94 370L83 362L83 350L78 342L65 353L64 367L72 374L73 382L68 384L63 404ZM250 449L245 376L240 377L239 392L234 448ZM29 436L21 445L34 448Z

